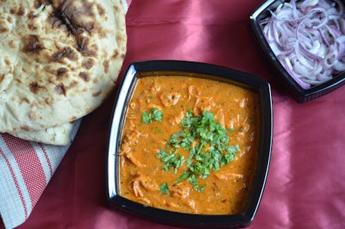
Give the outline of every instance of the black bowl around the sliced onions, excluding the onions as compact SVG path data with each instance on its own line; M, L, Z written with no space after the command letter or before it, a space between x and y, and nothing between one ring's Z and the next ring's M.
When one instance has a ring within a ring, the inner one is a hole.
M345 84L345 72L339 73L333 79L328 80L317 86L311 86L310 89L303 89L302 86L291 77L291 75L286 71L284 66L279 62L275 53L273 53L270 45L268 44L262 28L260 26L260 21L266 17L270 17L269 10L274 11L277 7L286 1L284 0L267 0L264 1L253 13L250 15L250 29L253 33L256 42L259 44L261 51L264 53L270 66L275 69L275 73L282 77L283 83L286 85L290 95L299 103L308 102L315 98L319 98L326 93L339 88ZM344 1L343 1L344 2Z

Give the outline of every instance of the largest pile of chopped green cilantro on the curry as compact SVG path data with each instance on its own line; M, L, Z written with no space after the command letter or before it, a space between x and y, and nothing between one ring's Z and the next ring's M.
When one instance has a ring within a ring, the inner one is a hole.
M199 185L197 178L205 179L210 170L218 171L221 166L233 161L239 152L239 145L229 145L228 130L216 122L213 113L207 110L202 112L202 116L194 116L192 111L187 111L180 127L182 130L172 134L168 140L166 147L171 148L170 152L160 149L158 158L164 163L165 171L174 169L176 174L177 168L185 161L177 149L188 150L186 169L175 182L188 180L195 190L201 192L206 183Z

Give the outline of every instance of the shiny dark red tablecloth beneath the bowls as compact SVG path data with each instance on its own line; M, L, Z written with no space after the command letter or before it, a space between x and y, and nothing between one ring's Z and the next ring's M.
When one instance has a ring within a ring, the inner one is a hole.
M273 90L273 150L250 228L345 228L345 87L306 104L287 94L248 33L261 0L133 1L130 62L181 59L246 71ZM110 210L106 147L112 95L86 116L29 219L19 228L172 228Z

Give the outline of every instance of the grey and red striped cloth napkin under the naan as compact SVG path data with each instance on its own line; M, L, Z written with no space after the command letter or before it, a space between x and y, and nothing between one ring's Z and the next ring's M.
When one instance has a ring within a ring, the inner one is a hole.
M125 12L131 1L121 0ZM75 122L72 139L80 122ZM5 228L15 228L28 219L69 147L0 134L0 216Z

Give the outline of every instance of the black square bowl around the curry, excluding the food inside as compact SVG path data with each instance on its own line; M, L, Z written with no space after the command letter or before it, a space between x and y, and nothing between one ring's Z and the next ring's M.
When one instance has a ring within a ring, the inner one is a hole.
M121 129L124 125L128 102L134 91L135 82L139 77L145 77L145 73L206 77L243 86L258 93L261 112L259 156L253 189L246 210L242 214L205 215L172 212L136 203L121 196L119 193L119 156L117 156L121 145ZM117 83L116 90L117 97L112 113L108 141L107 197L110 205L117 210L135 216L174 226L197 228L239 228L249 226L255 217L262 193L264 192L270 162L273 132L270 84L259 77L221 66L198 62L154 60L131 64L124 78Z

